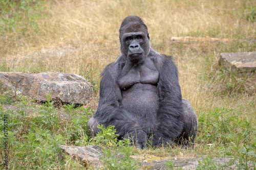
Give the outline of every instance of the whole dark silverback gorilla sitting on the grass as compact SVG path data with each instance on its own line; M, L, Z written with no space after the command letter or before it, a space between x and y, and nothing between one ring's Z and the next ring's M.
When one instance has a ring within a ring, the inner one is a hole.
M139 149L146 143L193 145L197 116L182 100L173 58L151 48L138 16L122 21L119 39L122 54L101 74L99 105L89 120L91 134L99 131L97 125L112 125L119 139L131 138Z

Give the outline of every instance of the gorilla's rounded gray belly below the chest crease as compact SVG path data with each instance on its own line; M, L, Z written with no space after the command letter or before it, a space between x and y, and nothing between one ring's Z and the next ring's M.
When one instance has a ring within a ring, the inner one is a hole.
M157 86L137 83L122 91L122 108L148 122L156 117L158 110Z

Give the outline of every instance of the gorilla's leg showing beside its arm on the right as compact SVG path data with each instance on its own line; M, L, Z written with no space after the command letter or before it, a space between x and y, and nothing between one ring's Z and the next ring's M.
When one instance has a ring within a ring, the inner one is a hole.
M176 143L182 144L185 147L191 145L194 147L194 142L197 135L197 116L189 101L182 99L184 110L184 126L181 135L176 139Z

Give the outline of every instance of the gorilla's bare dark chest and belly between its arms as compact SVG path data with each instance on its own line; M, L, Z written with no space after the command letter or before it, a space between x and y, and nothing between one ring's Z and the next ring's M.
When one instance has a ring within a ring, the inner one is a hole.
M137 116L148 116L156 113L158 109L158 81L159 72L156 69L146 66L132 67L118 81L122 92L122 107Z

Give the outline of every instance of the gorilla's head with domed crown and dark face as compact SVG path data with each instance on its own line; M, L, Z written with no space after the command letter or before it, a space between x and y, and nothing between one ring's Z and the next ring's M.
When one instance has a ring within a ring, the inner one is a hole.
M119 29L121 52L126 61L137 65L150 52L150 36L147 27L138 16L124 18Z

